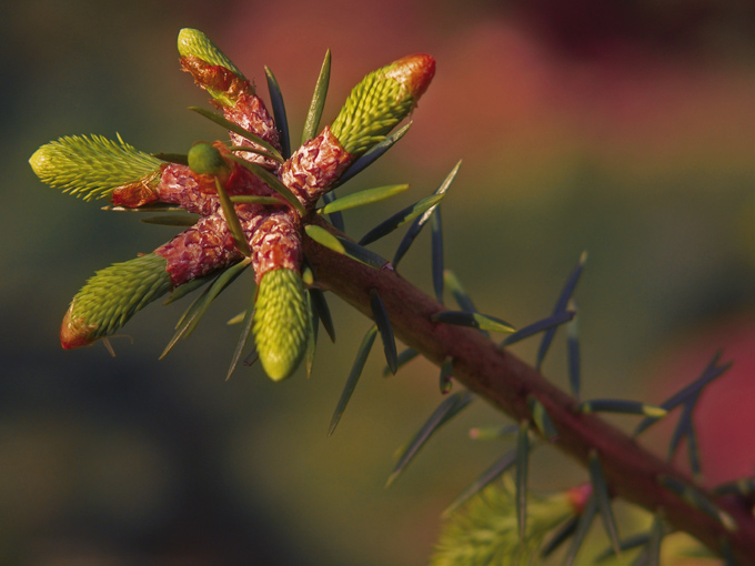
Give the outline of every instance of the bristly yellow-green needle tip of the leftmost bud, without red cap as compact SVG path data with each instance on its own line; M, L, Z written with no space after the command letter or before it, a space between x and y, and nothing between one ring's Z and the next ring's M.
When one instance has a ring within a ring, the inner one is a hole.
M100 135L60 138L38 149L29 163L42 182L85 201L110 196L124 185L149 192L163 164L120 135L118 141Z

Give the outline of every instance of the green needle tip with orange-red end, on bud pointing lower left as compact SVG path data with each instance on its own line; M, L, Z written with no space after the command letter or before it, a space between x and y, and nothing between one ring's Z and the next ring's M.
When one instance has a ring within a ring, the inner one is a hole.
M66 350L112 334L140 309L172 289L165 260L149 254L98 271L77 293L60 327Z

